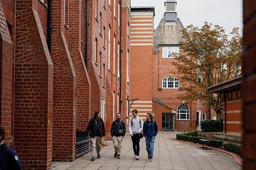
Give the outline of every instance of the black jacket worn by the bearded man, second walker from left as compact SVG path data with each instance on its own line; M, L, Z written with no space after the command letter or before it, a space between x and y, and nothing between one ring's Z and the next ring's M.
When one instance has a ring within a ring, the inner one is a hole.
M125 122L122 119L116 119L111 126L111 136L125 136Z

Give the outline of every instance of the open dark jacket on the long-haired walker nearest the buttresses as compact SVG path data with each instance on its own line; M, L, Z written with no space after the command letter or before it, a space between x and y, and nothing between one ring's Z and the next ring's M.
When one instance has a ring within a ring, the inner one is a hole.
M106 129L105 129L105 125L104 125L104 122L103 122L102 118L99 118L99 131L100 131L101 136L106 136ZM96 119L93 119L93 118L90 119L90 121L88 123L88 126L85 130L85 136L88 136L88 133L89 133L89 136L91 138L95 138Z

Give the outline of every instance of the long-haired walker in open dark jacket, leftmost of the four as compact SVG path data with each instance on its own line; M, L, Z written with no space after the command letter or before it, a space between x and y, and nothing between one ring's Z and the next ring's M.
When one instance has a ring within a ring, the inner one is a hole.
M97 157L100 157L100 150L102 142L104 141L104 136L106 136L106 129L104 125L104 121L101 118L101 113L96 111L92 119L90 119L88 126L85 131L85 136L90 136L90 144L91 144L91 161L95 159L95 151L97 147Z

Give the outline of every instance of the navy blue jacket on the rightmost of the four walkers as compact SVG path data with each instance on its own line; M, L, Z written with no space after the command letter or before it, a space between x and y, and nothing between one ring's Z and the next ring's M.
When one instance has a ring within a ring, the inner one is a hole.
M156 137L158 132L157 122L153 119L151 122L145 121L143 124L143 136L145 138Z

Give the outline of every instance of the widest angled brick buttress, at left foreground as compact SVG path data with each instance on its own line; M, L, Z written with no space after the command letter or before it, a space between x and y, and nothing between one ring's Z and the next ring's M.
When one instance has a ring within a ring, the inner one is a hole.
M14 142L21 163L52 166L53 66L37 0L16 0Z

